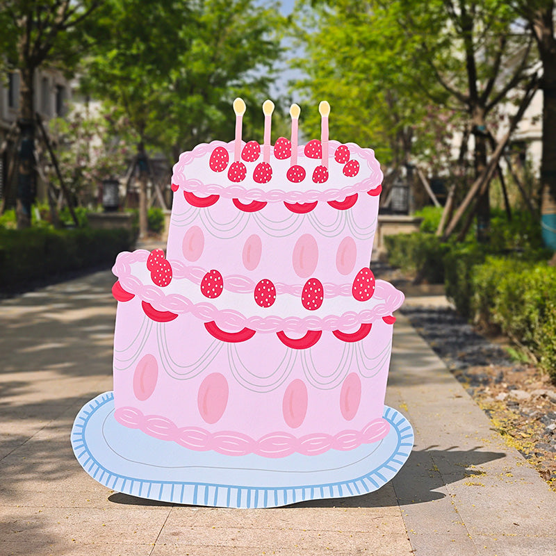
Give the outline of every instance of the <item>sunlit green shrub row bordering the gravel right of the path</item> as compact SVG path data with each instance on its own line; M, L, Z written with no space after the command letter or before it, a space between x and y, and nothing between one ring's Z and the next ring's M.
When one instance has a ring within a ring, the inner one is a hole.
M505 243L496 245L506 253L500 256L492 254L492 245L442 243L432 234L384 239L391 264L430 283L443 282L462 316L499 327L556 381L556 268L546 264L546 250L508 249Z

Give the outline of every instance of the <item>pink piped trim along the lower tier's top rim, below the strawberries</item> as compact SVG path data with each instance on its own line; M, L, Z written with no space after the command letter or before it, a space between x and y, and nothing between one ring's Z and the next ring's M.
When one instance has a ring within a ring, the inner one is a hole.
M346 311L341 316L328 315L324 318L318 316L286 317L277 316L252 316L246 317L234 309L218 309L209 302L193 303L185 295L179 293L164 293L162 288L145 285L131 274L132 262L143 261L145 250L130 253L124 251L117 256L112 272L120 280L122 288L128 293L137 295L141 301L151 304L158 311L170 311L171 313L191 313L193 316L209 322L214 320L223 329L250 328L256 332L304 332L306 330L322 330L332 332L333 330L349 330L366 322L375 322L398 309L403 300L402 292L394 288L392 284L383 280L375 283L375 295L373 297L384 300L383 304L375 305L373 309L363 311Z

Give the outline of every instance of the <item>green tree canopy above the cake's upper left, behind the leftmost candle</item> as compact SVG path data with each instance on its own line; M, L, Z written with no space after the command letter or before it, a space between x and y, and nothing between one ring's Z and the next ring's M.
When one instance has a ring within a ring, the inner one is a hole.
M231 102L259 103L268 93L282 23L275 4L253 0L110 0L90 29L97 40L85 90L117 107L139 140L172 147L173 156L232 138Z

